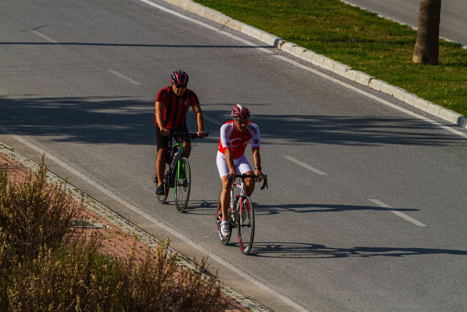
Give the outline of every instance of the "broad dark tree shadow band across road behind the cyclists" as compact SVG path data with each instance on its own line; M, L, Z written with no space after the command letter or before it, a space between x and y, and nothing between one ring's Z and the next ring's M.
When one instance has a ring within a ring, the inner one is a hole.
M155 94L154 94L155 97ZM202 103L203 113L219 123L229 120L234 103ZM222 105L225 110L213 107ZM261 104L255 104L258 106ZM50 142L154 145L154 101L134 96L34 97L0 96L0 126L17 135L41 136ZM193 119L189 114L189 119ZM194 119L193 119L194 120ZM461 137L439 131L418 119L375 116L255 114L262 144L347 146L466 145ZM217 143L219 125L205 121ZM280 127L278 127L280 125Z

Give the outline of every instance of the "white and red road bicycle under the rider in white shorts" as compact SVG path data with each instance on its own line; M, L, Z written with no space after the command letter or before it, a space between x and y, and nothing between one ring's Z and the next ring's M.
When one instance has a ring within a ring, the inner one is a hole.
M215 220L217 224L217 234L222 245L227 245L232 234L232 229L237 228L237 234L239 238L240 250L244 255L248 255L253 246L253 239L255 237L255 213L253 210L253 203L250 200L250 197L246 192L245 179L246 178L256 178L254 174L241 174L237 176L240 178L239 183L233 183L233 176L227 175L228 185L225 189L230 190L230 203L227 209L228 212L228 230L229 234L223 236L220 231L220 223L222 221L222 211L220 205L220 195L219 200L217 201L217 213L215 215ZM261 189L268 188L268 176L265 175L263 179L263 186ZM234 189L239 188L240 193L235 194Z

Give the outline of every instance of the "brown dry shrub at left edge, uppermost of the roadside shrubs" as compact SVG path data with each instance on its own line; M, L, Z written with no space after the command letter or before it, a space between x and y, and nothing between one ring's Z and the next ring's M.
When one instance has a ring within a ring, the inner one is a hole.
M19 256L34 257L41 247L61 244L75 231L71 222L81 207L65 193L65 185L47 183L44 156L37 174L29 171L21 182L0 172L0 228Z

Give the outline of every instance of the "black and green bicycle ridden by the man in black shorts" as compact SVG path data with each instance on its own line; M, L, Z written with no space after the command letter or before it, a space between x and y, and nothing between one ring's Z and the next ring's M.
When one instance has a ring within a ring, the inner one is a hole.
M206 132L206 136L209 132ZM176 144L172 145L172 138ZM169 189L174 189L175 206L179 213L183 213L188 204L191 189L191 170L188 159L184 157L183 140L199 138L196 133L173 132L170 136L169 151L166 156L166 171L164 172L165 193L157 195L160 203L165 203L169 195ZM202 139L202 138L201 138ZM155 186L158 185L157 174L153 177Z

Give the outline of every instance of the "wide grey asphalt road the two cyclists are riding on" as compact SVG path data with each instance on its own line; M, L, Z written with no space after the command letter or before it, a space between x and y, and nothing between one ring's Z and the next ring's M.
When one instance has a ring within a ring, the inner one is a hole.
M154 3L173 11L3 1L0 142L53 155L52 172L183 254L209 255L223 283L276 311L467 309L465 129ZM184 214L172 195L159 204L151 182L153 101L177 68L210 131L190 157ZM237 102L260 126L269 176L252 196L249 256L218 242L213 217L219 128Z

